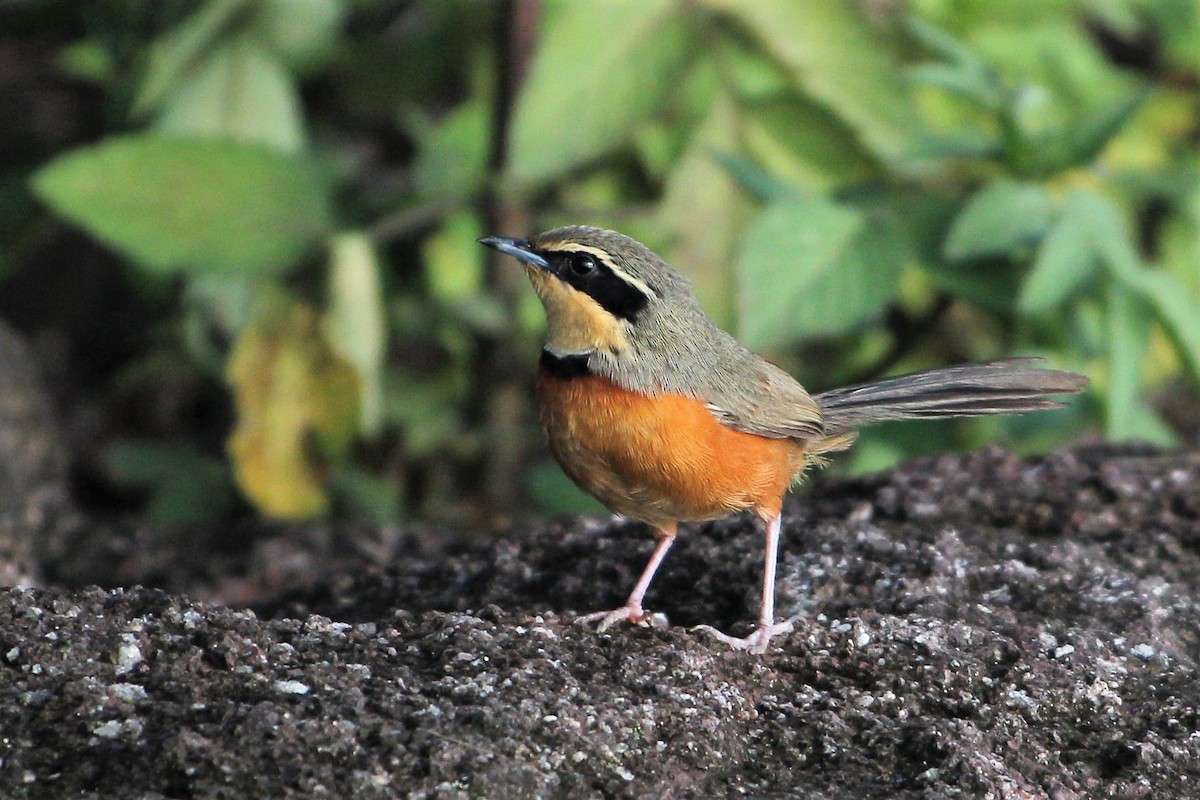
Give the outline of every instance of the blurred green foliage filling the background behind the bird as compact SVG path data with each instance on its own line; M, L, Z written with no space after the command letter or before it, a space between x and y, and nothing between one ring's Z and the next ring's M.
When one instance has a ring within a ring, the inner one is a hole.
M1193 0L0 0L0 314L78 491L158 519L595 507L485 234L617 228L818 391L1008 354L1052 414L1195 443Z

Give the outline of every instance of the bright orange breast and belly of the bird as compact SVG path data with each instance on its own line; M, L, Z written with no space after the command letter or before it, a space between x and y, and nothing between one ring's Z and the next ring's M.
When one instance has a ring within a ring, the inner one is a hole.
M703 401L647 397L595 375L538 381L563 470L617 513L652 524L779 513L804 445L728 428Z

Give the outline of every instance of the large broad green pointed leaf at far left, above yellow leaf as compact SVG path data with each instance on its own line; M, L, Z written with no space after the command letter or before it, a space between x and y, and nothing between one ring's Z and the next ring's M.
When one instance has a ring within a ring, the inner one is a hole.
M156 271L280 270L329 228L325 188L306 162L216 139L109 139L43 167L34 191Z

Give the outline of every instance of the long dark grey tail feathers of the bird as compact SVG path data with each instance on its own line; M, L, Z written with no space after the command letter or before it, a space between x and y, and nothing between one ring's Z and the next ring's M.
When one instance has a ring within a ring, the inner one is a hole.
M949 416L1020 414L1062 403L1052 395L1072 395L1087 386L1074 372L1042 369L1042 359L1002 359L926 369L869 384L835 389L814 399L826 431L836 434L886 420L930 420Z

